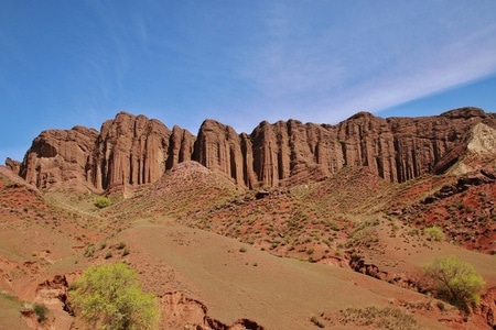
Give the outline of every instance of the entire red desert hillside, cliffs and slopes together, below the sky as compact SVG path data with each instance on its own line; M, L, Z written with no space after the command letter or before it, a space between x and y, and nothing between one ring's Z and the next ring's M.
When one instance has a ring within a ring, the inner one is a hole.
M197 135L120 112L43 131L6 165L1 329L87 329L71 286L117 262L157 297L160 329L496 327L496 114L482 109L250 134L206 120ZM478 301L442 299L436 256L474 267Z

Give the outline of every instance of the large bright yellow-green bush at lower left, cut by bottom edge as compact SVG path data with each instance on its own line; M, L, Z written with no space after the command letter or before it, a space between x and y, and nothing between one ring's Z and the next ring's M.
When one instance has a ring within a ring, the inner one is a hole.
M140 289L137 273L123 263L86 270L69 299L94 329L157 329L157 299Z

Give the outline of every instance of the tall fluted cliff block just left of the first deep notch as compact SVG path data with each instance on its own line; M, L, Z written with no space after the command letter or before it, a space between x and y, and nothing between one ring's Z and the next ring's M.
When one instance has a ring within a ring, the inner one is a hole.
M193 135L169 130L158 120L121 112L101 125L87 164L87 179L97 189L157 182L180 160L190 158Z

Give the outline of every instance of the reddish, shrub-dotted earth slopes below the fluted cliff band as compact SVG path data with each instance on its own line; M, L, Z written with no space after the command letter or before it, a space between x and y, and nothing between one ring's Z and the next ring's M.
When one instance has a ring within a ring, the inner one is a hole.
M496 308L495 239L483 231L494 232L493 184L423 204L456 178L392 185L363 168L239 191L186 168L98 210L94 196L41 193L0 168L0 328L84 327L63 310L66 287L54 278L69 285L88 265L117 261L160 298L162 329L375 329L386 320L412 322L407 329L489 329ZM457 204L463 209L453 210ZM463 220L449 222L450 210ZM422 232L434 223L444 241ZM446 227L454 224L457 231ZM475 242L450 243L464 231L474 231ZM422 266L445 254L471 262L487 284L466 320L417 292ZM46 305L47 320L21 318L25 301ZM353 318L356 311L371 312L369 323Z

